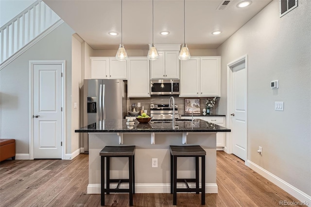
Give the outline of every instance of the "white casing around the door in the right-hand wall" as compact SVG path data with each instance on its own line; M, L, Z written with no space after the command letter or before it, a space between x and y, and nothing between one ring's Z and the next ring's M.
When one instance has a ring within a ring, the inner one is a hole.
M232 68L234 66L237 66L241 63L245 62L245 69L246 69L246 104L248 103L247 101L247 86L248 86L248 57L247 54L243 55L242 57L230 62L227 64L227 119L226 119L226 127L231 129L232 128L232 123L231 123L231 106L232 106ZM245 153L246 153L246 157L245 157L245 163L247 162L247 154L248 154L248 133L247 133L247 129L248 129L248 105L246 105L246 148L245 148ZM233 146L232 146L232 136L231 133L226 133L226 141L225 141L225 147L224 147L224 151L228 154L232 154L233 152Z

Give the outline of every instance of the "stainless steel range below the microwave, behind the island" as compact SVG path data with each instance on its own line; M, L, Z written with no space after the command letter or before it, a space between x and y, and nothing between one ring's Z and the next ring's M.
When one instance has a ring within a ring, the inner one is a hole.
M150 104L150 115L154 119L172 119L173 118L173 104ZM175 104L175 118L179 118L178 106Z

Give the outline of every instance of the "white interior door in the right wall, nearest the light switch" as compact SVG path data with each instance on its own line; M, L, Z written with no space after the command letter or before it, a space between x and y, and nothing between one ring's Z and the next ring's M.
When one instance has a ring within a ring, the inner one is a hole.
M247 153L247 72L245 60L231 68L232 153L245 161Z

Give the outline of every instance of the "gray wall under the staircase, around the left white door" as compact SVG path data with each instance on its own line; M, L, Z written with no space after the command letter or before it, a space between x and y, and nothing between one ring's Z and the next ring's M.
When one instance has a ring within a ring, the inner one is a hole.
M29 61L66 60L67 137L71 128L71 38L63 23L0 70L0 138L15 138L16 153L29 153ZM71 153L67 145L66 153Z

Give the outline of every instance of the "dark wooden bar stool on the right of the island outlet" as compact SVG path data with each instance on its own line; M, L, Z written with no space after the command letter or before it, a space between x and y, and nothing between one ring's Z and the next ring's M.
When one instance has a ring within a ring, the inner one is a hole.
M173 205L177 203L177 192L201 192L201 204L205 205L205 150L199 146L170 146L171 151L171 194ZM195 157L195 178L177 179L177 157ZM201 157L201 188L199 187L199 157ZM185 188L177 188L177 183L183 182ZM188 182L195 182L195 188L190 188Z

